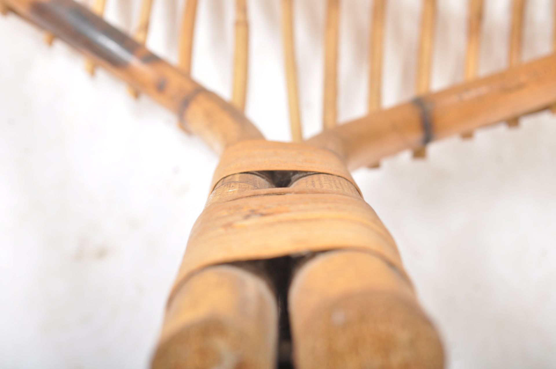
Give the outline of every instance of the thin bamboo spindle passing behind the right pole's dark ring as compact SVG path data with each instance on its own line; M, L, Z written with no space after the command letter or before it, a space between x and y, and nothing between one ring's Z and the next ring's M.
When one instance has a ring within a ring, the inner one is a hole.
M436 0L423 1L421 15L421 36L419 39L419 58L417 65L416 92L425 94L430 90L431 71L433 67L434 31L436 22ZM426 146L413 151L414 158L426 157Z

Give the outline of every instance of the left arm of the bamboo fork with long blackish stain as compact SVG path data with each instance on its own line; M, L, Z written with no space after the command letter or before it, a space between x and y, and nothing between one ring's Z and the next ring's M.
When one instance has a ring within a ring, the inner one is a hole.
M262 134L243 114L72 0L6 0L29 21L155 99L217 153ZM76 23L77 22L77 23Z

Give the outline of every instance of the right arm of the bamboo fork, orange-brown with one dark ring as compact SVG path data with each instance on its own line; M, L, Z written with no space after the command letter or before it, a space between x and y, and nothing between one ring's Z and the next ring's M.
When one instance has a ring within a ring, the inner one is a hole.
M552 106L556 54L374 112L307 142L344 158L350 169L405 149Z

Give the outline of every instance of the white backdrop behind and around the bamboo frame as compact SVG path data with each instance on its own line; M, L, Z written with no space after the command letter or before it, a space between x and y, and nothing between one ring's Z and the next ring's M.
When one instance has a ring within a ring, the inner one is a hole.
M320 129L324 2L297 2L305 134ZM289 139L276 0L249 2L247 116ZM155 2L149 46L175 61L182 4ZM439 1L433 87L461 81L464 1ZM507 64L509 0L486 1L480 73ZM137 2L108 1L125 29ZM345 0L341 121L365 112L370 2ZM388 8L384 103L415 80L420 2ZM529 1L524 59L549 53L550 0ZM201 0L193 76L230 96L233 2ZM0 19L0 367L147 367L216 157L150 99L20 19ZM355 173L398 241L449 367L550 368L556 348L556 118L434 143Z

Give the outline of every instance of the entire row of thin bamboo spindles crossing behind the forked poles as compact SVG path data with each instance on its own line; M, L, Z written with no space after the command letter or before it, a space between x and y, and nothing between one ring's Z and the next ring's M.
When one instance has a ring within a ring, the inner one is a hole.
M423 0L421 12L421 27L419 38L419 54L417 60L417 73L415 93L422 95L430 91L431 68L433 67L433 48L436 23L436 3L438 0ZM470 81L478 75L479 46L481 34L481 20L483 18L483 0L469 0L468 4L468 41L466 47L465 81ZM509 67L520 63L523 44L523 18L525 0L512 2L512 26L510 32ZM141 44L147 41L153 0L141 0L140 17L133 37ZM384 28L386 0L374 0L371 7L371 27L369 45L369 82L368 82L368 112L381 109L381 91L383 64L384 64ZM92 0L91 10L102 16L105 12L106 0ZM0 11L4 14L8 8L0 0ZM180 29L178 46L177 67L187 74L191 73L191 59L193 48L193 35L197 0L186 0ZM556 2L554 3L556 12ZM339 20L340 0L327 0L325 21L325 47L324 47L324 97L323 97L323 127L333 128L337 125L337 79L338 79L338 45L339 45ZM556 49L556 27L554 36L554 49ZM302 124L299 106L299 92L297 89L296 58L294 47L294 0L282 0L282 38L284 42L284 57L287 95L290 112L290 126L292 141L302 141ZM54 35L47 33L46 42L51 44ZM236 0L235 24L235 56L234 78L232 85L231 103L241 112L245 110L247 76L249 59L249 24L247 18L246 0ZM86 61L88 73L95 73L95 62ZM132 96L137 97L138 92L128 87ZM556 105L553 107L556 111ZM508 119L508 126L518 124L518 118ZM462 137L470 138L473 132L463 133ZM414 150L414 157L424 157L425 147Z

